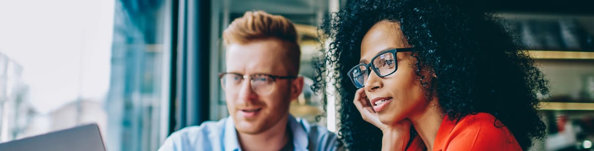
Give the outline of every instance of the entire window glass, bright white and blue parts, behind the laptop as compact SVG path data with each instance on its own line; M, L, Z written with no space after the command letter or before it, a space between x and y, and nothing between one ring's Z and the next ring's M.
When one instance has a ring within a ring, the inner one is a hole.
M0 1L0 142L97 123L156 150L168 100L165 1Z

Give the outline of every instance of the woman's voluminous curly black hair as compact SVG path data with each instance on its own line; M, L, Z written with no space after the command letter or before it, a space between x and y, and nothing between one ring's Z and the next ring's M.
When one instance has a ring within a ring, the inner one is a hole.
M353 105L356 88L347 71L358 64L361 40L380 21L399 23L413 46L416 74L425 92L439 98L450 120L489 113L501 121L527 150L544 139L545 124L537 95L548 96L548 81L532 58L493 12L439 0L349 1L321 25L331 43L315 60L312 89L336 95L340 141L350 150L380 150L382 133ZM394 31L396 32L396 31ZM424 76L429 70L433 76ZM337 91L326 92L334 85ZM323 97L327 105L328 97ZM429 99L431 100L431 99ZM495 121L494 121L494 124ZM496 124L497 125L497 124Z

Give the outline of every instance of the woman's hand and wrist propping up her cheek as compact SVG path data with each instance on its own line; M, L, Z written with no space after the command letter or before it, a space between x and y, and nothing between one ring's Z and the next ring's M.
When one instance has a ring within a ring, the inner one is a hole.
M405 150L410 139L410 120L405 119L393 124L381 123L378 114L373 110L371 102L365 95L365 88L358 89L353 100L363 120L380 128L383 132L381 150Z

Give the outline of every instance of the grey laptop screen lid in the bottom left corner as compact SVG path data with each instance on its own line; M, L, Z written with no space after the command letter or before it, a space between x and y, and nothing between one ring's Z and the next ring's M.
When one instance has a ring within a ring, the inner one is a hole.
M105 145L99 132L99 126L97 124L87 124L39 136L0 143L0 150L105 151Z

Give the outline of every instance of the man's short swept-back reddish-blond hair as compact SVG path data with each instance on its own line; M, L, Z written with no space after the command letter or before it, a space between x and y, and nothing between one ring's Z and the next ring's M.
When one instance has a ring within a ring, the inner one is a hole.
M223 31L223 40L226 46L233 43L247 44L270 38L280 40L283 42L283 46L286 46L286 57L292 64L287 67L295 69L289 74L296 75L299 72L301 49L299 49L299 37L295 25L287 18L271 15L264 11L248 11L243 17L233 20L229 27Z

